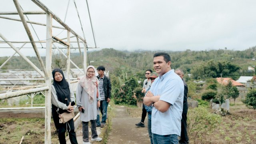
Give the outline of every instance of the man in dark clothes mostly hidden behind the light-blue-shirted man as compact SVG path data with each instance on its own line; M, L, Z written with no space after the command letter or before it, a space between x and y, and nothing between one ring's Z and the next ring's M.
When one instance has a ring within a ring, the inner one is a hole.
M183 111L182 111L182 119L181 119L181 134L180 134L180 144L188 144L188 132L187 132L187 113L188 113L188 86L185 80L183 79L184 72L183 70L176 69L175 73L180 76L184 83L184 99L183 99Z

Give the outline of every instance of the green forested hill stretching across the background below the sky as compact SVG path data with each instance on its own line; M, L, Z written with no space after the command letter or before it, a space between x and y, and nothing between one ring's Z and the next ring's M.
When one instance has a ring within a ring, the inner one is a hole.
M88 53L88 63L91 65L106 66L112 74L119 75L126 71L130 74L142 72L148 68L152 69L153 54L156 51L119 51L113 48L105 48L99 51ZM186 73L192 73L196 79L206 77L222 76L232 77L234 79L242 76L252 76L254 72L248 71L248 66L254 67L256 61L256 46L244 51L234 50L204 50L204 51L179 51L168 52L171 56L172 68L181 68ZM0 57L2 64L8 57ZM36 57L28 57L32 62L39 66ZM45 61L45 58L42 58ZM71 59L82 68L82 60L79 53L72 53ZM53 55L52 67L65 67L65 60L60 54ZM88 64L87 64L88 65ZM72 65L71 65L72 66ZM73 67L74 68L74 67ZM13 57L4 69L32 69L19 56Z

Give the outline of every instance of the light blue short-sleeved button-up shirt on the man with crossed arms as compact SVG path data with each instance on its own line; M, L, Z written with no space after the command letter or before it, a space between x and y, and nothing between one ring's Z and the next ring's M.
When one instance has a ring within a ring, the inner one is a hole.
M171 104L166 112L160 112L154 106L151 115L151 132L159 135L177 134L180 136L183 109L184 84L174 70L155 79L150 91L160 100Z

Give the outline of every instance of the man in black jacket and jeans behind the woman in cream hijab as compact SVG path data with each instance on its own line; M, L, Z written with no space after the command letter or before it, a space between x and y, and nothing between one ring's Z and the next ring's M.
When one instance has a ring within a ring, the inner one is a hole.
M99 97L100 97L100 112L102 114L102 121L100 124L100 115L97 116L96 125L103 128L106 124L106 118L107 118L107 110L108 110L108 103L110 102L111 98L111 82L110 79L104 75L105 67L99 66L97 68L99 79Z

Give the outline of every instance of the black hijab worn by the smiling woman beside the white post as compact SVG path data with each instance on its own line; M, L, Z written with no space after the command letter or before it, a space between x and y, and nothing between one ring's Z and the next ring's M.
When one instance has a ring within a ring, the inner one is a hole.
M63 77L62 81L57 82L54 79L55 72L60 72L62 74L62 77ZM62 70L60 68L55 68L54 70L52 70L52 77L53 77L52 85L56 90L58 100L68 106L70 102L70 90L69 90L68 82L66 81ZM65 100L65 98L67 98L68 100Z

